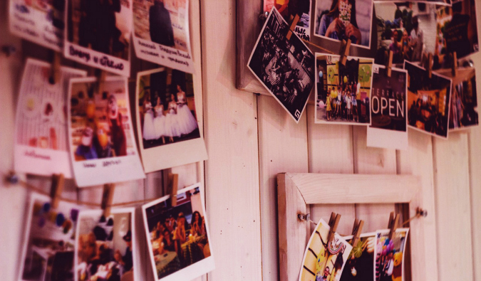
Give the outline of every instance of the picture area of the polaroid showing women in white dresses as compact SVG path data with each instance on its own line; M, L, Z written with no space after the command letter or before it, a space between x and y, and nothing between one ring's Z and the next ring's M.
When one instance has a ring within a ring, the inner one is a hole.
M192 74L160 68L138 81L143 149L200 137Z

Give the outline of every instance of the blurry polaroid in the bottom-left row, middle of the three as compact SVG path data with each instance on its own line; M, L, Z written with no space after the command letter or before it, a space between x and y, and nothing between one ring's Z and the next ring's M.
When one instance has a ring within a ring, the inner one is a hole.
M76 235L76 281L133 281L135 208L81 211Z

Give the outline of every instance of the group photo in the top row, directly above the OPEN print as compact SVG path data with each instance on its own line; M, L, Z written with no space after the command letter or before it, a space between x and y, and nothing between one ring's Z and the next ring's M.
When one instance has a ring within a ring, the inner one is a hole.
M404 60L420 61L435 53L435 4L421 2L375 2L378 31L376 63L387 65L389 51L393 64L403 68ZM435 60L435 58L434 58Z

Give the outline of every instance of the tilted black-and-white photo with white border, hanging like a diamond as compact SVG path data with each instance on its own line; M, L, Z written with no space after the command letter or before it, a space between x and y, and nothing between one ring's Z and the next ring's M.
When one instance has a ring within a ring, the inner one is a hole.
M299 122L314 86L314 54L272 8L247 66L271 95Z

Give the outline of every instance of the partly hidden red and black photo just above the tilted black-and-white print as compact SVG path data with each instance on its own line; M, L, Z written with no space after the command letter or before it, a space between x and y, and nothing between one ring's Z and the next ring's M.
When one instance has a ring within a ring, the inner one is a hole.
M263 7L264 13L276 7L287 23L292 21L291 17L299 15L294 33L301 39L311 41L311 6L311 0L264 0Z

